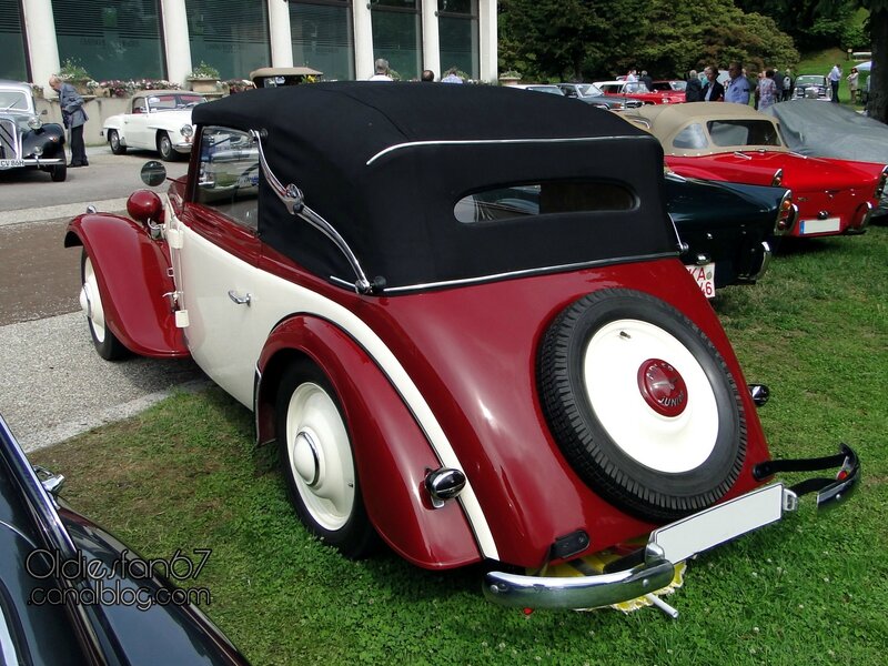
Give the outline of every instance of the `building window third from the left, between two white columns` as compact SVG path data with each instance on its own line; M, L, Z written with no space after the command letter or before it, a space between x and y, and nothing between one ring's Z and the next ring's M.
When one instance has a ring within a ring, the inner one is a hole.
M185 0L191 62L205 62L222 79L246 79L271 64L265 0Z

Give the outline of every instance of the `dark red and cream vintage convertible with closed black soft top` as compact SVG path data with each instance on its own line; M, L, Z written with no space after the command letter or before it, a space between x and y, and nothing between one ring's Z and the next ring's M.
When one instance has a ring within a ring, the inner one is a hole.
M495 602L593 607L795 507L771 477L798 462L771 461L764 387L678 260L646 132L411 83L251 91L193 120L168 194L71 222L81 304L105 359L191 355L253 410L324 542L490 561ZM821 503L858 477L845 446L805 465L842 470ZM604 549L625 555L606 573L527 573Z

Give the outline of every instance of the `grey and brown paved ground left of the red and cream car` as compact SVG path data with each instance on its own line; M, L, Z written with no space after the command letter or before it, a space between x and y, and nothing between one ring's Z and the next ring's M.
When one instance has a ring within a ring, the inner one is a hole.
M123 211L151 155L89 152L91 165L64 183L44 173L0 179L0 413L26 451L135 414L175 387L206 384L189 360L109 363L93 350L78 303L80 252L62 246L65 226L88 203Z

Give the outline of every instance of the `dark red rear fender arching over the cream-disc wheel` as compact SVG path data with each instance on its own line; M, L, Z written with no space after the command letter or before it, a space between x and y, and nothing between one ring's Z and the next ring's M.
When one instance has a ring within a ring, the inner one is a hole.
M323 369L336 391L367 515L383 539L425 568L480 562L481 552L458 501L433 508L423 490L427 472L441 463L416 420L366 351L333 323L297 315L272 331L258 363L259 442L274 436L278 384L301 356Z

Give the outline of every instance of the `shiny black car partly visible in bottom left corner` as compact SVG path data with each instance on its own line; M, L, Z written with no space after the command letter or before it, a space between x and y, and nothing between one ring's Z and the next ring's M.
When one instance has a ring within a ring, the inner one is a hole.
M65 505L62 482L31 466L0 416L0 664L248 664L190 603L200 588L168 578L196 578L209 549L141 559Z

